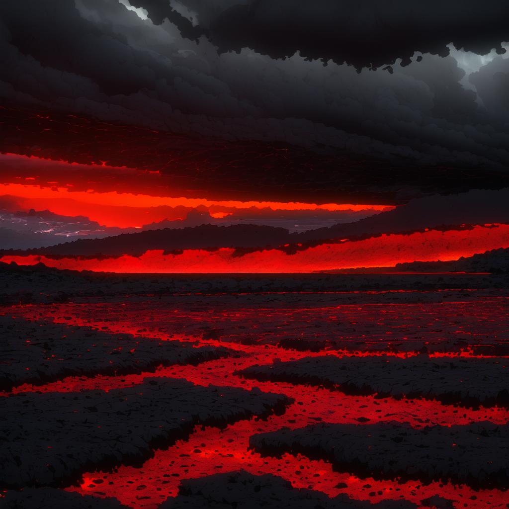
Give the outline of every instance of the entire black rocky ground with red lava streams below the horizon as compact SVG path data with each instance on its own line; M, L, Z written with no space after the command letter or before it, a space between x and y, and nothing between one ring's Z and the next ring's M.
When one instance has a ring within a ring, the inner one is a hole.
M507 507L503 273L1 270L0 505Z

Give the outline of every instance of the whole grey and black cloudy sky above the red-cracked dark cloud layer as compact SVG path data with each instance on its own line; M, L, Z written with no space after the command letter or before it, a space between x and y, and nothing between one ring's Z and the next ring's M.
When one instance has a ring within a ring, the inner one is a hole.
M411 164L509 162L507 3L131 4L3 2L0 97Z

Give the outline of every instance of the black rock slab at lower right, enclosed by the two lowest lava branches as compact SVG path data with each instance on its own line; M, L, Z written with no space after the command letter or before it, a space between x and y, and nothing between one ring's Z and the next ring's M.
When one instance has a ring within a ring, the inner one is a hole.
M476 489L509 488L509 425L477 422L416 430L408 423L321 424L253 435L262 454L304 454L361 477L452 480Z

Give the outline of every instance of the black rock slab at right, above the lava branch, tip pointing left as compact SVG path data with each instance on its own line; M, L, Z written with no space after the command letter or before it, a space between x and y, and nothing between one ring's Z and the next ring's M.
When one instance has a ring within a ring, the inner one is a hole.
M325 385L347 394L509 407L507 365L506 358L323 356L250 366L239 374L257 380Z

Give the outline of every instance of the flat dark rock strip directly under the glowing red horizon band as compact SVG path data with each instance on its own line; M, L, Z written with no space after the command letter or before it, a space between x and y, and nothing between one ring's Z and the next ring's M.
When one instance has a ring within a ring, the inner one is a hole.
M175 295L180 293L334 292L364 290L506 289L506 276L419 274L116 274L17 265L0 259L0 305L66 302L76 297ZM426 298L422 293L419 298ZM397 297L398 294L394 294Z

